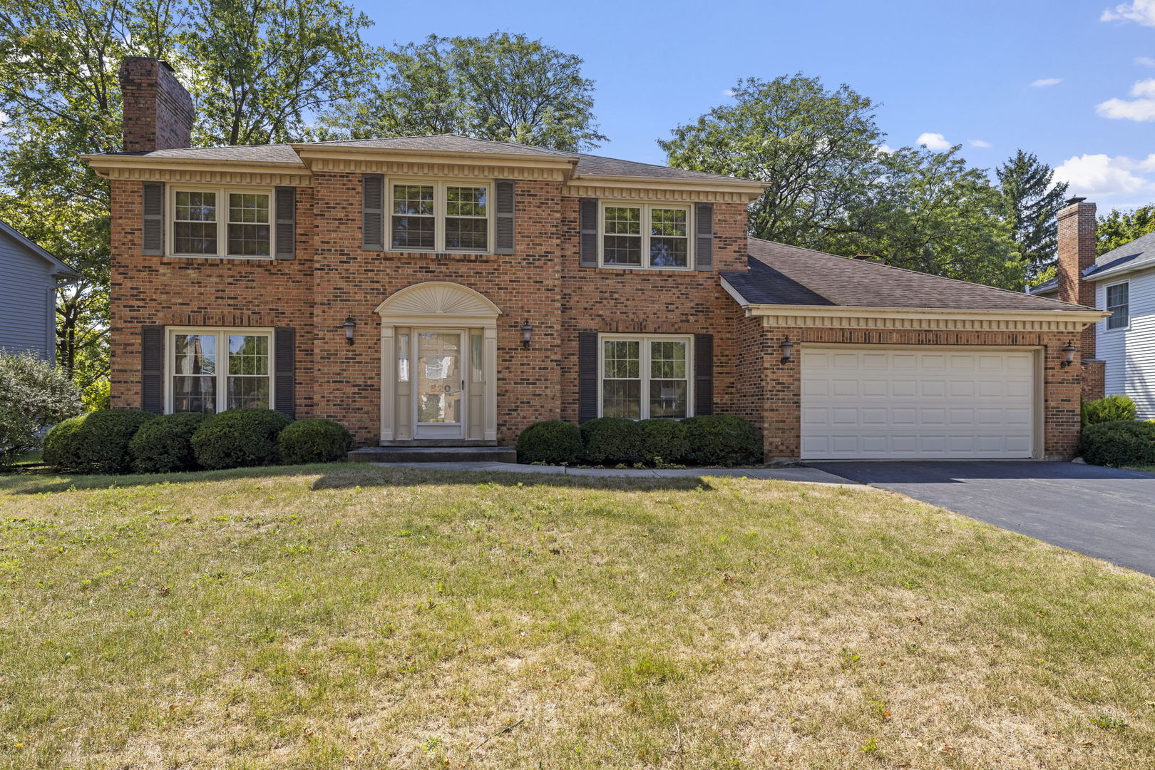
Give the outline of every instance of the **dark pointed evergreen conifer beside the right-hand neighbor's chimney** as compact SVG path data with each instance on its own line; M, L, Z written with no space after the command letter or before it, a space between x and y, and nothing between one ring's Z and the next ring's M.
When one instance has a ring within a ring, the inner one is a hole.
M1007 158L994 173L1019 256L1028 272L1035 275L1055 261L1056 217L1064 205L1067 184L1055 182L1055 170L1023 150Z

